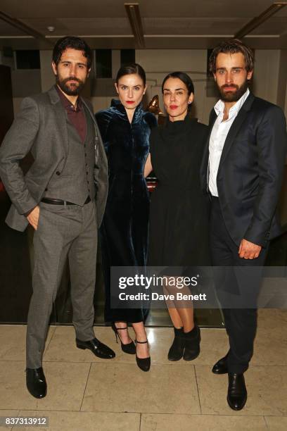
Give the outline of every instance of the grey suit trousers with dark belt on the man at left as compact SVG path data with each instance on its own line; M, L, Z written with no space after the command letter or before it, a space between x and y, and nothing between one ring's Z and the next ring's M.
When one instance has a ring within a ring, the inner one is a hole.
M42 366L53 301L68 257L76 337L94 338L97 226L94 201L83 207L41 202L34 232L33 294L27 320L27 368Z

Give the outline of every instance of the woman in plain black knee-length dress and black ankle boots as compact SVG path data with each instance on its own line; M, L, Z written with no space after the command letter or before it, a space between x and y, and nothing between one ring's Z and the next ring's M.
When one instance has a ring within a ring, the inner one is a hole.
M189 75L167 75L162 94L168 118L151 134L145 169L145 175L153 169L158 178L151 196L148 265L209 265L208 208L199 173L208 127L189 115L194 94ZM172 268L167 273L172 273ZM167 305L174 325L170 361L182 357L191 361L200 352L200 330L194 323L192 303L189 305Z

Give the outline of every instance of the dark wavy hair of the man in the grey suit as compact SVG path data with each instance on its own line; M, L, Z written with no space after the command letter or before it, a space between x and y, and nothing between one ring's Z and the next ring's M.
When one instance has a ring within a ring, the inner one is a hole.
M76 36L64 36L58 39L58 41L56 42L56 45L54 46L53 57L52 57L53 62L56 65L58 65L63 52L68 48L82 51L84 57L87 58L87 68L88 69L91 68L91 58L92 58L91 48L86 42L84 42L83 39Z

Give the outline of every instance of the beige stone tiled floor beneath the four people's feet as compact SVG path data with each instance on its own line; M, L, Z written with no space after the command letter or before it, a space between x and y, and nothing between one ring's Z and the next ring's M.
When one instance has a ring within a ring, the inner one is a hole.
M46 340L45 399L25 387L25 326L0 325L0 416L44 416L53 431L205 431L287 429L287 311L259 312L255 352L245 373L248 401L227 406L227 375L210 368L227 349L224 330L202 330L201 353L190 363L167 361L170 328L148 328L152 366L137 368L108 327L96 336L116 357L102 360L75 346L72 327L51 327ZM132 335L132 330L131 330ZM1 427L0 430L30 430ZM39 429L39 428L36 428Z

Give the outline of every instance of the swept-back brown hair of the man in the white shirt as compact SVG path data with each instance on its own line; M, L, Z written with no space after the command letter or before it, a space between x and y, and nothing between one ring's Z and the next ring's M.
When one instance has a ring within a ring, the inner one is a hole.
M221 52L223 54L236 54L237 52L241 52L245 59L245 69L247 72L254 69L254 54L252 49L243 44L239 39L229 39L221 42L213 49L209 58L209 69L211 73L215 73L216 71L216 58Z

